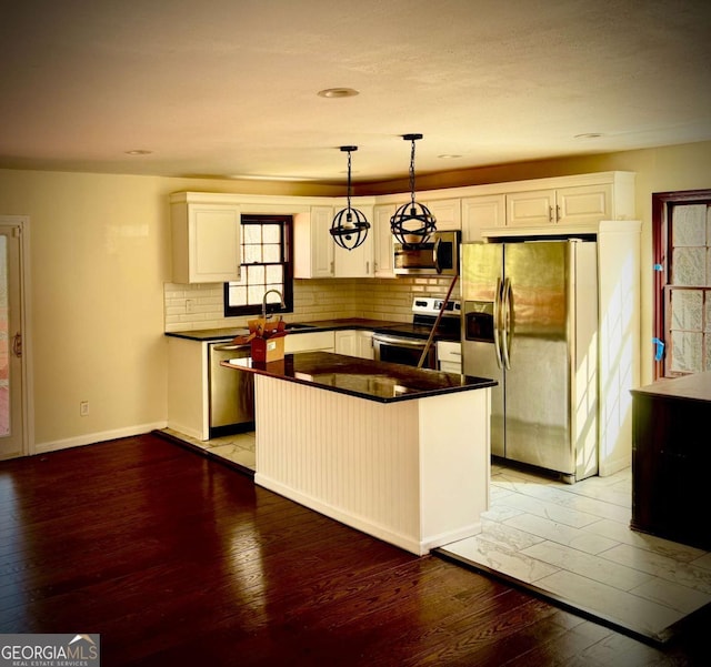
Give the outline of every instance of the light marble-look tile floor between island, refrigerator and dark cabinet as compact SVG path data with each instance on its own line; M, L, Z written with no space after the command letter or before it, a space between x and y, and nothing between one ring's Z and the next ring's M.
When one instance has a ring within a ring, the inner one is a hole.
M569 485L492 465L481 534L439 550L665 641L711 603L711 554L632 530L631 501L630 468Z

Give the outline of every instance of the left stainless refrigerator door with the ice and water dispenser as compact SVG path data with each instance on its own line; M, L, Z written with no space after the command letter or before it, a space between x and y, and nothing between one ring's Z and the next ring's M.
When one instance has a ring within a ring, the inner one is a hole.
M464 375L490 377L491 453L504 456L503 360L500 347L500 295L503 245L462 244L462 364Z

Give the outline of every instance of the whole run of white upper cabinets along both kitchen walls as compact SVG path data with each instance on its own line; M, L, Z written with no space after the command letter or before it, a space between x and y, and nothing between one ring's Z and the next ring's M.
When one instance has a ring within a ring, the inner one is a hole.
M633 220L634 173L601 172L415 193L439 231L462 243L498 236L594 233L603 220ZM181 192L172 194L173 281L239 280L240 212L293 215L294 277L394 277L390 219L409 193L352 198L370 222L354 250L333 242L333 215L346 198Z

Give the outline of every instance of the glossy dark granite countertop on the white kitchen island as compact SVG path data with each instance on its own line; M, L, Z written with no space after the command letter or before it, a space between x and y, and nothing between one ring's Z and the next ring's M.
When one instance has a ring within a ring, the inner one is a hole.
M250 357L236 358L222 362L221 365L379 403L425 398L497 384L495 381L483 377L441 373L330 352L287 354L283 360L270 363L253 362Z

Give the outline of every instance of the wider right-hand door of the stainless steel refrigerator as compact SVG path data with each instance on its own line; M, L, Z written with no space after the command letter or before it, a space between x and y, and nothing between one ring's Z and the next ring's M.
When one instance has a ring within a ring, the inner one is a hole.
M508 243L505 456L574 474L570 437L570 244Z

